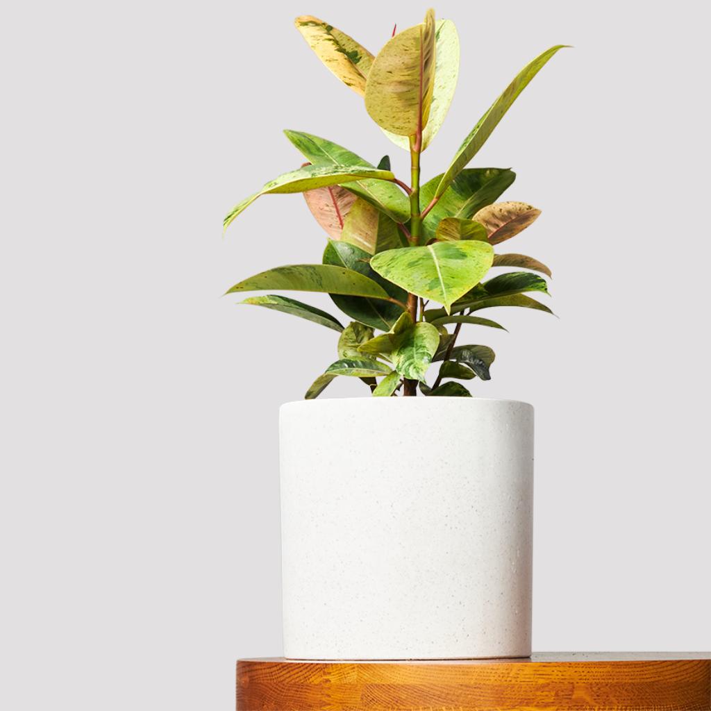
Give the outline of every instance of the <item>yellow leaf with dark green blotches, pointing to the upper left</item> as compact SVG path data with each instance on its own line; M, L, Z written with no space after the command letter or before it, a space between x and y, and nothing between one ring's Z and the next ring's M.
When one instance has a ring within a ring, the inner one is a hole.
M317 17L302 15L294 20L294 25L326 68L363 96L373 55L352 37Z

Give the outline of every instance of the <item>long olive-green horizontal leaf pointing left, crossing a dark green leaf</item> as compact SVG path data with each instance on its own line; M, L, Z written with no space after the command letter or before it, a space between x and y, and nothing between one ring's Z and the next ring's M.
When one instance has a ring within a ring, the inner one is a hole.
M262 292L271 289L349 294L369 296L373 299L388 298L385 289L373 279L368 279L353 269L344 269L330 264L294 264L268 269L235 284L227 293Z

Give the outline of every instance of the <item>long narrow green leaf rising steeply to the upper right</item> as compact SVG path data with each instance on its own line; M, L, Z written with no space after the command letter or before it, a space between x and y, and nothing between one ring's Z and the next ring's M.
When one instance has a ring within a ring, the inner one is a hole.
M464 166L474 158L486 139L491 136L493 129L496 128L498 122L501 121L504 114L510 109L518 95L528 86L528 82L530 82L530 80L538 74L538 71L543 65L563 47L565 47L565 45L556 45L555 47L545 50L544 53L538 55L538 57L526 65L523 70L516 75L514 80L506 87L503 94L493 102L488 111L479 119L474 129L471 130L469 136L467 136L461 146L459 146L454 160L451 162L447 172L442 176L442 180L439 181L435 195L440 196L449 188L454 178L456 178Z

